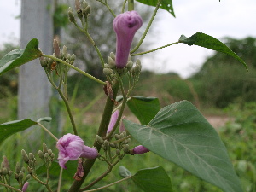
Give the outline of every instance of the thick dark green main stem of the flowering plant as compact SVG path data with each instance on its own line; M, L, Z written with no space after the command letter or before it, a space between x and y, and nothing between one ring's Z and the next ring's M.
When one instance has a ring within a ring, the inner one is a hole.
M119 90L119 83L117 81L114 81L112 84L112 90L113 90L113 99L115 99L117 92ZM112 110L113 110L114 102L112 101L112 98L108 96L107 102L104 108L104 112L102 114L102 120L101 124L99 126L97 135L100 137L105 137L106 132L108 129L108 124L112 115ZM97 143L96 139L94 142L94 146L97 148L98 151L102 148L100 144ZM88 176L88 173L90 172L91 167L94 165L96 159L86 159L85 160L85 165L84 165L84 176L81 178L80 181L74 181L68 192L78 192L81 185L84 183L85 178Z

